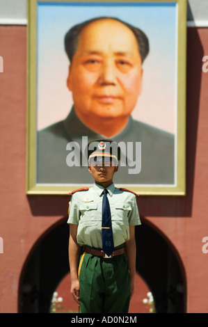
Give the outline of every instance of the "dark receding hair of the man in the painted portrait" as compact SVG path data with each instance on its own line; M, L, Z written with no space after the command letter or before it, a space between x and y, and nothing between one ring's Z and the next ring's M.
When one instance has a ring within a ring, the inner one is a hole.
M70 62L72 63L74 53L77 50L79 33L81 32L81 30L88 24L92 22L96 22L97 20L101 20L101 19L114 19L117 20L118 22L121 22L122 24L125 24L125 26L131 29L131 31L134 33L136 37L136 41L138 43L138 51L141 55L141 61L143 63L147 54L150 51L149 40L147 38L147 35L145 35L145 33L141 31L141 29L138 29L137 27L127 22L123 22L121 19L115 17L95 17L93 19L88 19L86 20L86 22L82 22L81 24L72 26L72 28L69 31L67 31L67 33L65 34L65 39L64 39L65 51L67 53L68 58L70 59Z

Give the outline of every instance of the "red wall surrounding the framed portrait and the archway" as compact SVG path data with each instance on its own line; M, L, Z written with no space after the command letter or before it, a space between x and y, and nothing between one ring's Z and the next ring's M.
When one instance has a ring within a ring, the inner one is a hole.
M35 241L67 215L66 196L26 196L26 27L0 26L1 218L0 312L17 312L22 266ZM187 312L208 312L208 29L188 29L186 196L138 200L141 216L175 246L184 264Z

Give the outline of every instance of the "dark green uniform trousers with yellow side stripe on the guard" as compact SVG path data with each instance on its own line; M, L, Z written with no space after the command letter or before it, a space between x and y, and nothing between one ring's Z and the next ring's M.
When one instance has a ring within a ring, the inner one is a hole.
M105 259L83 253L78 276L80 313L128 312L130 275L127 255Z

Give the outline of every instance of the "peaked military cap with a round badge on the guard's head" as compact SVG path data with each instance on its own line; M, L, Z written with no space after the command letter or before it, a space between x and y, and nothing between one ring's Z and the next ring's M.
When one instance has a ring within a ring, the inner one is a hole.
M117 165L120 160L120 147L109 139L94 140L86 147L86 157L88 163L110 159Z

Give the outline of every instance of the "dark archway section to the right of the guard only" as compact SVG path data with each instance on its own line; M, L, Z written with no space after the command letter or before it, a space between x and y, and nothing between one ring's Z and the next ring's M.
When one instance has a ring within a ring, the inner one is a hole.
M145 218L136 227L136 270L147 282L158 313L186 312L186 274L171 241Z

